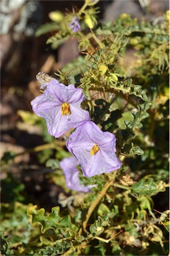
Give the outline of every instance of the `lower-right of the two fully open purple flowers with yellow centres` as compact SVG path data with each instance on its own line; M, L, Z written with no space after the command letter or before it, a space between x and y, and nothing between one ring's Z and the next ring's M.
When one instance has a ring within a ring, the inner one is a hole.
M77 127L66 146L78 159L86 177L109 173L121 167L121 161L115 154L115 135L101 131L92 121Z

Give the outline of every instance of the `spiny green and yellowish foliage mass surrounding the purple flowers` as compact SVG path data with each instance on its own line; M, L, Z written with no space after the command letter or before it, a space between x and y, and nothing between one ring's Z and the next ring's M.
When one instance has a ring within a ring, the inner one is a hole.
M118 171L89 179L92 193L69 191L59 161L69 157L65 141L47 134L45 122L19 111L25 123L43 130L44 145L33 149L39 163L51 168L47 179L68 195L51 212L27 205L24 185L8 175L2 182L2 255L167 255L168 209L157 211L155 196L167 197L169 181L169 12L153 25L122 14L114 23L97 23L99 9L85 1L76 15L81 31L73 33L73 13L55 12L37 36L54 31L47 43L56 48L75 38L79 57L56 71L65 85L75 83L86 96L82 107L103 131L117 138ZM65 22L63 22L65 21ZM129 69L129 49L133 65ZM55 154L55 157L53 157ZM15 155L5 153L2 166Z

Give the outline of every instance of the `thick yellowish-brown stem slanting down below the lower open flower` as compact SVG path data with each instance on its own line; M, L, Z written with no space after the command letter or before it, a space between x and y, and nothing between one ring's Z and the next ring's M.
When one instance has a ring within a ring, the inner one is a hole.
M93 213L95 207L98 205L99 201L101 201L101 199L103 198L103 196L105 195L106 191L109 189L109 187L111 187L111 185L113 185L113 181L116 177L116 174L117 174L117 171L114 171L113 173L113 179L111 179L111 181L108 181L105 185L105 187L103 187L101 193L99 193L98 197L95 199L95 201L93 202L93 204L91 205L91 207L89 207L89 211L87 212L87 215L86 215L86 219L85 221L83 222L83 229L84 231L87 233L87 230L86 230L86 226L87 226L87 223L89 221L89 218L91 217L91 214Z

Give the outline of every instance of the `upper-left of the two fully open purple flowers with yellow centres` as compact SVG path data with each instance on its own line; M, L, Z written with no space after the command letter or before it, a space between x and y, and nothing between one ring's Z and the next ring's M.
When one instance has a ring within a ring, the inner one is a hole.
M59 137L90 119L89 112L81 109L83 99L81 88L65 86L52 79L44 93L33 99L31 105L39 117L45 118L49 134Z

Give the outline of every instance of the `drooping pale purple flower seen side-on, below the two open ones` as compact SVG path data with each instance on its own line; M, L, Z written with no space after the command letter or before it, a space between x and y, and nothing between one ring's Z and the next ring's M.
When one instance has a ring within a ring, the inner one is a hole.
M65 158L60 162L61 168L65 174L65 180L67 187L69 189L73 189L81 192L90 192L92 187L96 185L89 185L85 187L80 184L79 181L79 170L77 169L77 165L79 165L77 159L75 157Z

